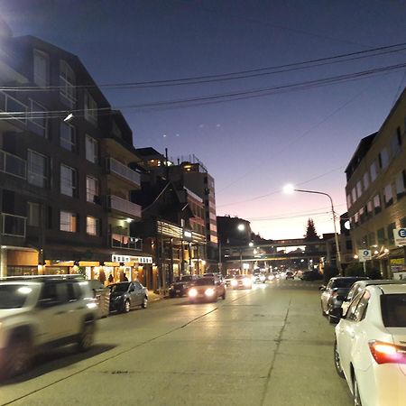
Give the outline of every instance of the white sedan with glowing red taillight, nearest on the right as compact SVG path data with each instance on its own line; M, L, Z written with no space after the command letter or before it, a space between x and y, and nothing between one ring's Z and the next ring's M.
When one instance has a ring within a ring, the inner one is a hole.
M355 405L406 405L406 285L370 285L355 296L336 326L334 360Z

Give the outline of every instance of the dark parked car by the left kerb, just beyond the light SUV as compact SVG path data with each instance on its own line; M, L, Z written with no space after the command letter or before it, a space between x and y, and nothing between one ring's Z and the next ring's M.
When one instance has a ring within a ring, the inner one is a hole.
M113 283L109 286L110 311L128 313L131 309L148 305L148 291L139 281Z

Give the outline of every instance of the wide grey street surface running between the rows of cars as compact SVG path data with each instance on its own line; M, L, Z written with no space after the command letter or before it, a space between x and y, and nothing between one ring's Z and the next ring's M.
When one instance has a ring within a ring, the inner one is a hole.
M0 384L0 405L349 406L318 284L228 290L217 303L160 300L101 319L94 349L41 355Z

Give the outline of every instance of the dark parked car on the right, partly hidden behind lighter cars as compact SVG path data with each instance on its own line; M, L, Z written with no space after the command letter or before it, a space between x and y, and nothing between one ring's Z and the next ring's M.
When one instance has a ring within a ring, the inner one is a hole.
M351 289L355 281L363 281L369 279L366 276L337 276L328 281L326 287L321 286L320 304L321 313L323 316L328 316L330 323L335 323L338 319L334 315L330 315L331 309L341 308L346 294Z

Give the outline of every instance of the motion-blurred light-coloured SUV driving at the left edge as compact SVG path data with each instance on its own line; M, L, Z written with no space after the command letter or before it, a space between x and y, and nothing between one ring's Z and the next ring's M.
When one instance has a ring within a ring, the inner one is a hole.
M0 280L0 377L25 372L35 353L93 344L97 303L88 282L69 276Z

